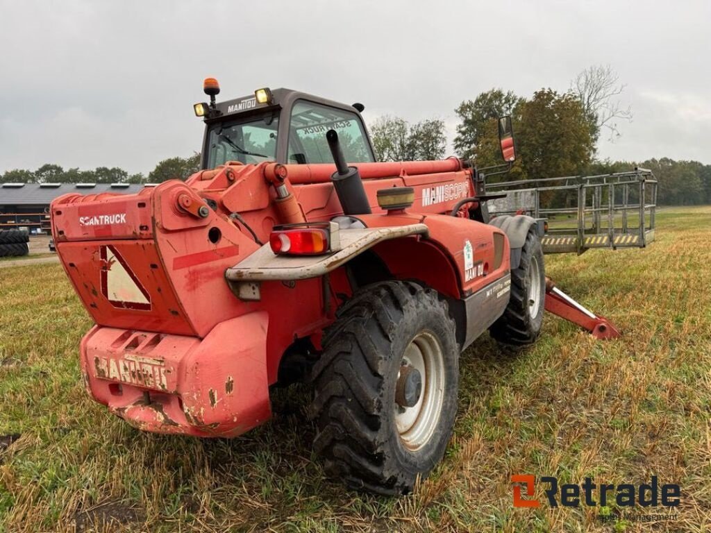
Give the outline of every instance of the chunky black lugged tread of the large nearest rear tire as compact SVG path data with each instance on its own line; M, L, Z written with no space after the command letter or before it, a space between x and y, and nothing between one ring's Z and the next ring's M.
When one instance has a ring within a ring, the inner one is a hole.
M353 488L402 494L417 477L395 468L389 456L387 440L392 437L382 418L387 408L382 392L393 335L403 318L424 308L437 309L454 332L447 303L436 291L387 281L356 293L324 335L324 354L311 376L316 390L309 406L317 426L314 450L324 458L328 475Z

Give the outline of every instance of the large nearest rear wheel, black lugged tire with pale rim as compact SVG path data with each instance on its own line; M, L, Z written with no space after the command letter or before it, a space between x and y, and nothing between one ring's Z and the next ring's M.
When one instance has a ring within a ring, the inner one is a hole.
M456 414L454 328L436 291L401 281L366 286L338 311L309 408L328 475L399 495L439 463Z

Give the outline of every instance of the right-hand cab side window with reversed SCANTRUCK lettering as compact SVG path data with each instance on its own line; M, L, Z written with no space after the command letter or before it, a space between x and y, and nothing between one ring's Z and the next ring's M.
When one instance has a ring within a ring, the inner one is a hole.
M333 163L326 141L329 129L338 133L346 161L375 161L358 114L300 101L294 104L289 123L288 163Z

